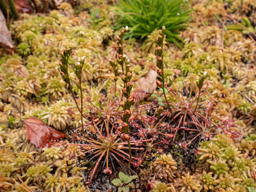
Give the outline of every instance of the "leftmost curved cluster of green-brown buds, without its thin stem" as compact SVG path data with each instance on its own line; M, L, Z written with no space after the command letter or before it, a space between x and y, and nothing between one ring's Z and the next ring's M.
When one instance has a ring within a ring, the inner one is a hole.
M72 47L70 46L68 49L64 49L64 52L60 52L61 60L60 60L60 75L66 83L70 85L70 79L68 76L68 58L72 53Z

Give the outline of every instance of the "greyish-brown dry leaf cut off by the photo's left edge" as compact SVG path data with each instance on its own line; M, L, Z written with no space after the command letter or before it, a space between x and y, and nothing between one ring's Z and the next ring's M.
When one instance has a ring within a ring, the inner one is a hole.
M12 36L7 28L4 14L0 9L0 46L6 51L14 51L14 45L12 44Z

